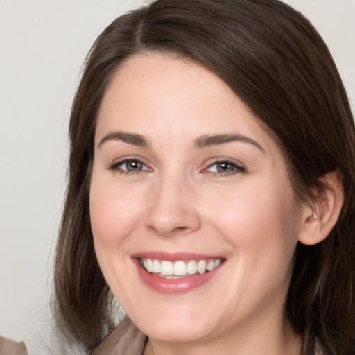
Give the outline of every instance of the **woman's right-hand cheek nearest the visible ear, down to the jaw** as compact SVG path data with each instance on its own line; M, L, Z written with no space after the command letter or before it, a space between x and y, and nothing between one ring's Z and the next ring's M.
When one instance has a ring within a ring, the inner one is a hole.
M250 304L258 309L274 298L284 302L297 245L298 211L291 187L281 189L277 184L236 189L227 200L214 204L210 219L231 247L233 267L225 300L239 297L236 304L243 304L245 312Z

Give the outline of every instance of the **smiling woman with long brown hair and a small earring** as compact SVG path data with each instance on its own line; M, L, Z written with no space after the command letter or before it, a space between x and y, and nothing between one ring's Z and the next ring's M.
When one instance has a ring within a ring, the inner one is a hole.
M302 15L157 0L119 17L69 132L55 288L88 351L354 354L354 121ZM112 295L128 316L103 340Z

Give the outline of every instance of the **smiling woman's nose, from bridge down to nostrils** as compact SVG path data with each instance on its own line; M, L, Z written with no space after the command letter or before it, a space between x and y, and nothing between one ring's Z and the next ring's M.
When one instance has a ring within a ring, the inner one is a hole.
M144 223L159 236L189 234L200 227L193 187L177 177L161 178L152 190Z

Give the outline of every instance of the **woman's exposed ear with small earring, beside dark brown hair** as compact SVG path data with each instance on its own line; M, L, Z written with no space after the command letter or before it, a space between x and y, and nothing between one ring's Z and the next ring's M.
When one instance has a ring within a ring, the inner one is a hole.
M304 205L298 241L315 245L327 238L339 218L344 202L343 182L338 171L320 178L325 193L310 205Z

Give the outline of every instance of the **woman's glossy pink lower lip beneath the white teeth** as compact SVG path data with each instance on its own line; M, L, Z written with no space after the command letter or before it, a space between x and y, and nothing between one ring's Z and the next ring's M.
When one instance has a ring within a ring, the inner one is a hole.
M135 262L135 264L138 270L138 275L146 286L158 293L166 293L169 295L187 293L206 284L212 277L214 277L214 275L216 275L216 272L218 272L220 268L220 266L218 266L218 268L206 272L205 274L191 275L189 277L184 277L183 279L164 279L163 277L146 272L144 268L141 268L139 262Z

